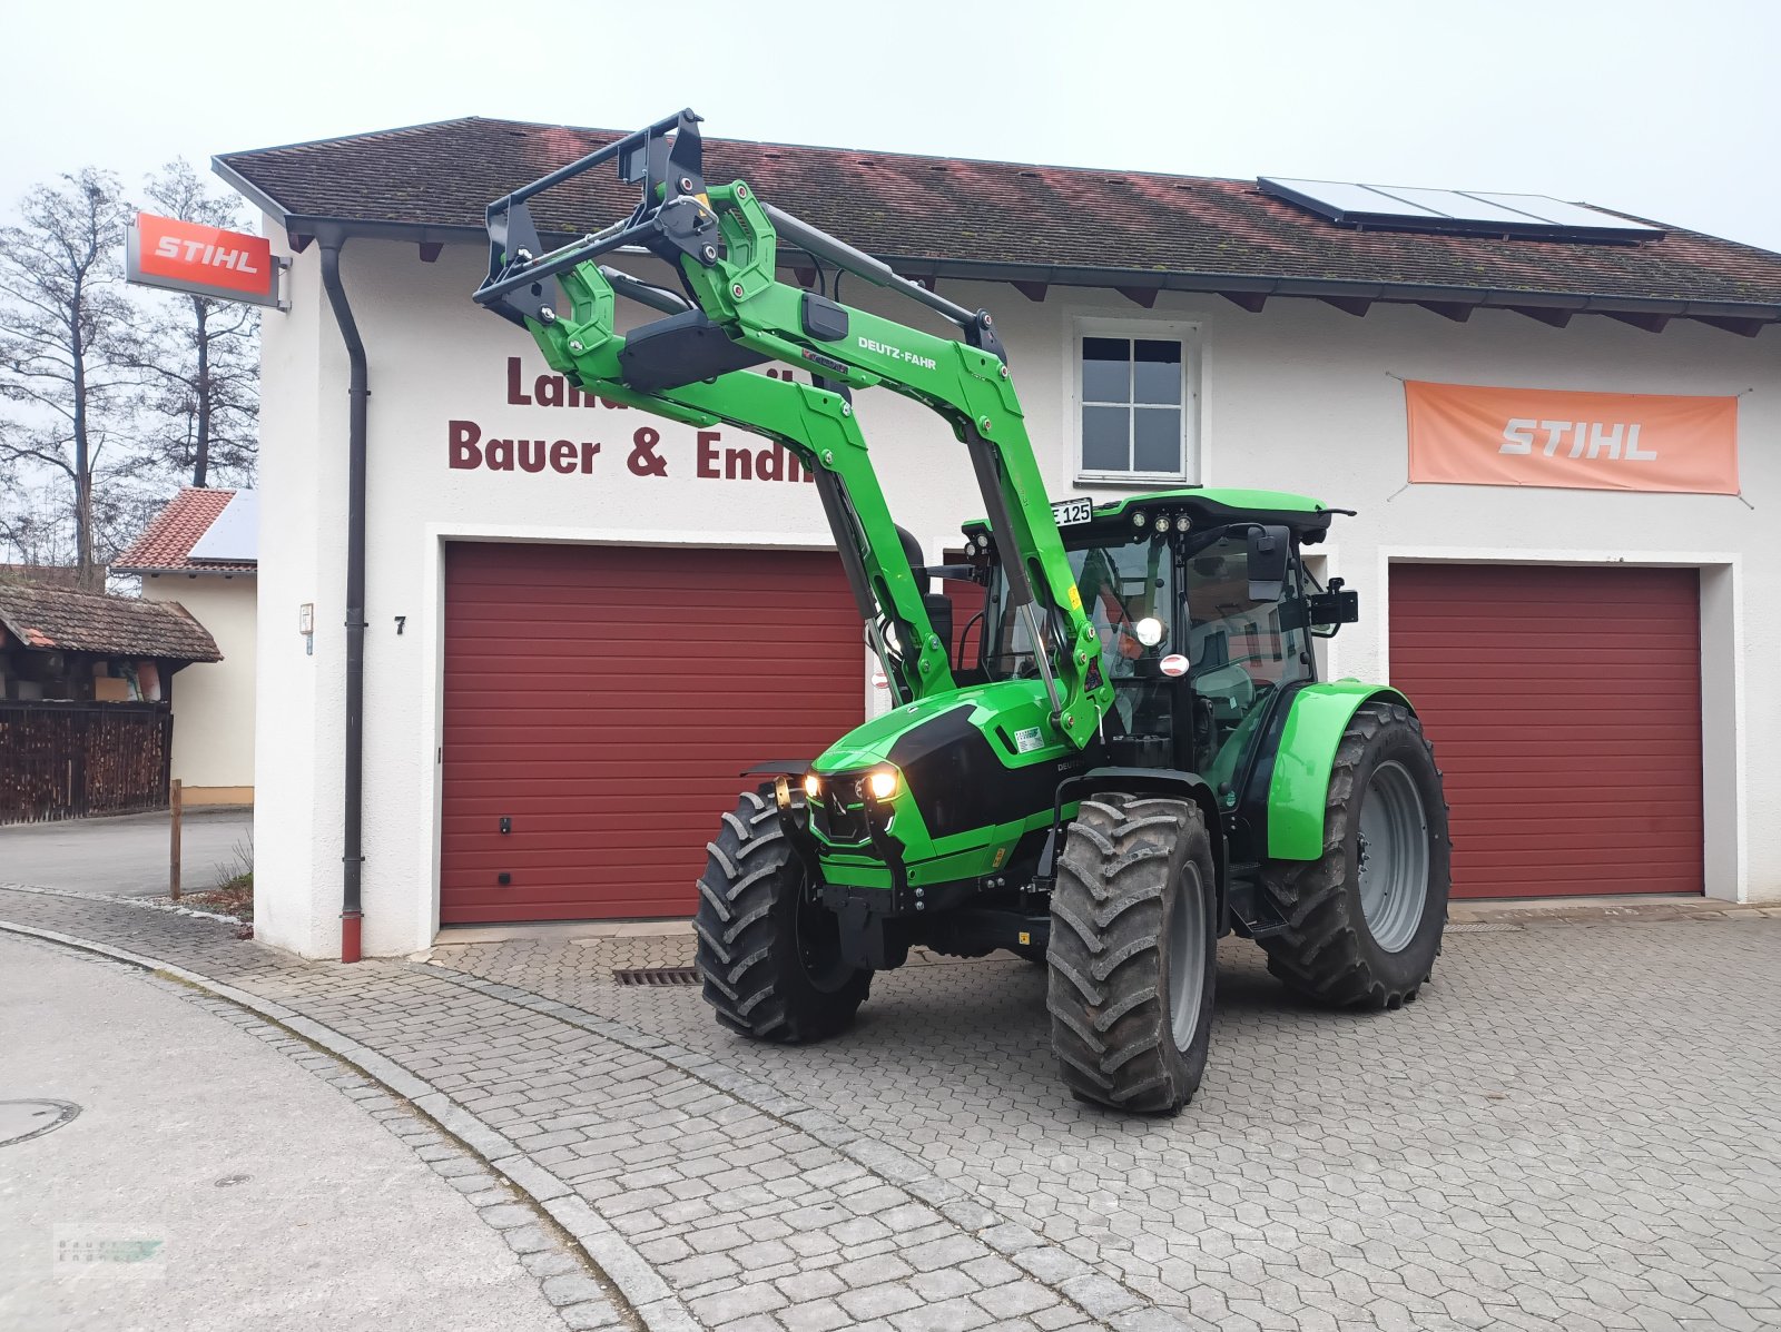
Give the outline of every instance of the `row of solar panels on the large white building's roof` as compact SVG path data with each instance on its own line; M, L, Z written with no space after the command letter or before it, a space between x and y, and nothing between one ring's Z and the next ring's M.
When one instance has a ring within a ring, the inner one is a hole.
M1297 203L1339 226L1541 240L1656 240L1647 223L1549 199L1544 194L1357 185L1339 180L1259 176L1265 194Z

